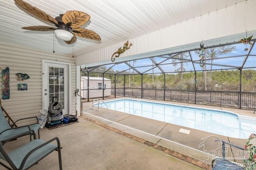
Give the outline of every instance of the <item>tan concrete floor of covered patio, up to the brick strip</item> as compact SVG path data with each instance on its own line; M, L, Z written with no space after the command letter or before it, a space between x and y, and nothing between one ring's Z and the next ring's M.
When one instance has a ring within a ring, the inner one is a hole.
M78 121L65 127L40 130L42 140L55 136L60 139L63 170L201 169L90 121L82 118ZM24 136L6 143L4 147L12 150L28 141L29 136ZM58 170L58 152L49 154L30 170Z

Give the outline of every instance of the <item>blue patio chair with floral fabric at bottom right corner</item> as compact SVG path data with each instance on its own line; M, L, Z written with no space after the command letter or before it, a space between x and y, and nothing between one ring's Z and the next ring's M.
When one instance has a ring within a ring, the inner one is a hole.
M236 146L224 140L215 140L222 142L222 158L212 160L212 170L255 170L256 169L256 134L251 134L244 148ZM244 150L243 164L236 164L225 158L225 146L231 145L235 148ZM216 162L214 164L214 162Z

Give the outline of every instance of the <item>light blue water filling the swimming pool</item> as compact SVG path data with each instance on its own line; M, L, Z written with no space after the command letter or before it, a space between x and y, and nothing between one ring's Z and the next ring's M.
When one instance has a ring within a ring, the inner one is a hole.
M119 99L105 103L108 109L115 111L234 138L248 138L252 132L256 132L256 118L228 111L133 99ZM106 108L105 105L102 107Z

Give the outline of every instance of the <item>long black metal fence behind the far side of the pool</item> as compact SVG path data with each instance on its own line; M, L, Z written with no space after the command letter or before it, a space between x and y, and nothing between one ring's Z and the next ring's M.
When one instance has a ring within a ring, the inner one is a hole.
M237 109L256 108L256 93L248 92L116 88L112 89L111 94L114 97L136 97Z

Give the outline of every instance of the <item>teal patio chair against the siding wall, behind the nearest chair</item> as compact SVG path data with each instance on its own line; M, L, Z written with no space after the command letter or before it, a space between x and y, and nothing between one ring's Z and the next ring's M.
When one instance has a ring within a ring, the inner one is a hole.
M14 127L14 126L17 126L16 123L18 121L21 121L24 119L35 119L35 120L37 120L37 123L32 124L32 125ZM24 132L29 132L29 130L34 130L34 132L38 132L38 138L40 138L40 134L39 134L40 124L38 124L38 118L37 117L28 117L28 118L24 118L24 119L19 119L18 121L14 122L14 124L11 127L11 125L8 123L6 117L4 116L2 107L0 107L0 141L3 145L7 142L6 140L8 138L12 138L13 136L23 134ZM30 134L30 133L27 133L27 134ZM31 134L30 134L30 140L31 140Z

